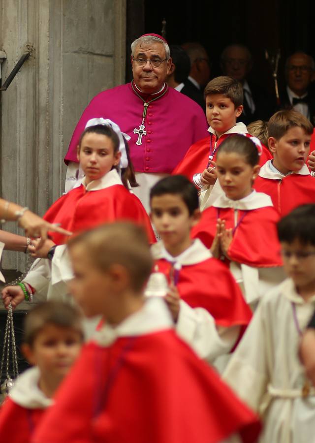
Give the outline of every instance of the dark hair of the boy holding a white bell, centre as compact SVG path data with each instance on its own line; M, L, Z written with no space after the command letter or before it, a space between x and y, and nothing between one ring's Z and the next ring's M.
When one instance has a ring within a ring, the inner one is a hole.
M198 191L184 175L170 175L156 183L150 191L150 202L153 197L164 194L179 195L186 204L190 216L199 208Z

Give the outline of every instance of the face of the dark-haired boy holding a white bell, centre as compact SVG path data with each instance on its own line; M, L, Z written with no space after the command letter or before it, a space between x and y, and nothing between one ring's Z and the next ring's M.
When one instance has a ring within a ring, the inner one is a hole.
M158 195L151 199L151 220L166 250L181 253L190 245L190 230L199 220L199 210L190 216L180 195Z

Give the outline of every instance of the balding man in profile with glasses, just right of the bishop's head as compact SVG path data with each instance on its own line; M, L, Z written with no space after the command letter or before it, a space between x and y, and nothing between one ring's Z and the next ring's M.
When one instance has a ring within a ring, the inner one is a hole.
M210 79L210 62L208 54L200 43L188 42L182 45L190 59L190 72L184 81L182 93L197 102L206 112L203 88Z

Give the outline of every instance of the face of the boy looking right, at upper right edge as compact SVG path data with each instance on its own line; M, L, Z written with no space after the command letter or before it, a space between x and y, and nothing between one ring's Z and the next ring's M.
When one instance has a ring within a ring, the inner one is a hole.
M310 142L311 135L298 126L291 127L279 140L269 137L275 168L283 174L299 171L309 155Z

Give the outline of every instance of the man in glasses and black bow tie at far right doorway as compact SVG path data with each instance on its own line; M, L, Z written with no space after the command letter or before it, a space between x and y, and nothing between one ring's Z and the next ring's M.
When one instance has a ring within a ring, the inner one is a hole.
M315 63L304 52L292 54L285 63L286 88L280 94L282 109L294 108L315 125ZM313 86L313 87L312 87Z

